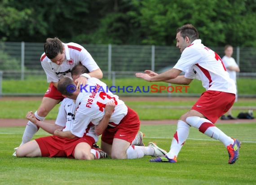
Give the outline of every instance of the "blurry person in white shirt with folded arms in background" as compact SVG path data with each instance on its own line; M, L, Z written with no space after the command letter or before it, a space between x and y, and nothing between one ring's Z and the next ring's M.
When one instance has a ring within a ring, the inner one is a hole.
M236 73L240 72L240 68L235 62L234 58L232 57L233 54L233 47L231 45L226 45L224 48L225 56L222 57L222 61L224 63L225 68L227 69L228 73L230 74L230 78L234 80L236 84ZM237 87L237 84L236 84ZM235 101L237 101L238 92L236 93ZM221 119L235 119L232 116L232 107L227 112L227 116L222 115Z

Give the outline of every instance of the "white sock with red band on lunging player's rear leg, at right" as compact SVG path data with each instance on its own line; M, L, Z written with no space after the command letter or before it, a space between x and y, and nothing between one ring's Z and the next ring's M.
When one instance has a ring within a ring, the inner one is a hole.
M221 141L226 147L234 143L231 137L228 137L224 132L215 126L211 121L198 116L191 116L186 119L187 123L192 127L198 128L200 132Z

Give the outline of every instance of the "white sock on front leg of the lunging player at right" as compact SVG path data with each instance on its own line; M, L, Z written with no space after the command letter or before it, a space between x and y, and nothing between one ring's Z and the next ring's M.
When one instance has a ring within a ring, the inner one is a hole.
M173 135L170 151L166 154L169 159L174 159L181 151L186 139L190 133L190 126L184 121L179 120L177 123L177 131Z

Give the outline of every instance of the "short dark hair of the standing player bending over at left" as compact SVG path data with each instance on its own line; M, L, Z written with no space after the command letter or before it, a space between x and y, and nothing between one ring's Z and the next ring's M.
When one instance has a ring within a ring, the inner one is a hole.
M53 59L57 57L59 53L63 53L63 47L62 41L57 37L54 37L54 39L47 38L44 43L44 53L49 59Z

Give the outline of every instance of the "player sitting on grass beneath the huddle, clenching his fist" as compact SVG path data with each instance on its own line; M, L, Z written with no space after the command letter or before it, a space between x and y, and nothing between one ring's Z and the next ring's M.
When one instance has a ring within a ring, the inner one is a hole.
M110 108L110 110L106 110L107 112L114 110L111 106L106 106L106 108ZM92 123L82 131L81 138L63 138L54 134L57 130L69 131L72 128L75 109L74 101L65 98L60 106L55 124L37 120L30 111L26 118L53 136L40 137L19 146L16 151L17 157L66 157L80 160L106 158L106 152L97 148L97 145L96 147L93 145L98 141L98 136Z

